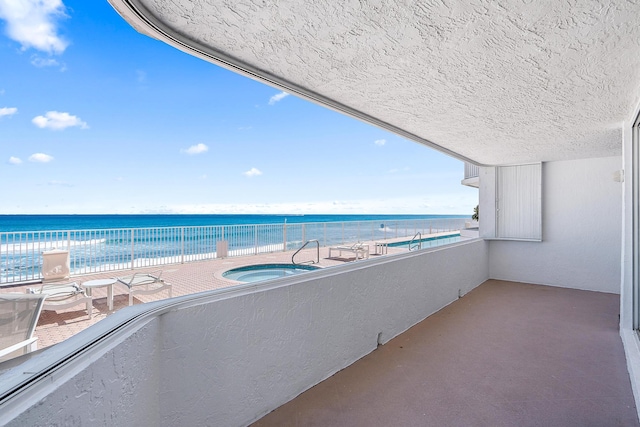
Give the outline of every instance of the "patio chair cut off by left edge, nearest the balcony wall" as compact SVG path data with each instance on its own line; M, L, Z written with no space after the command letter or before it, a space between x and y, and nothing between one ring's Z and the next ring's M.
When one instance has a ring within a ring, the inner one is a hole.
M38 349L34 337L46 295L0 294L0 362Z

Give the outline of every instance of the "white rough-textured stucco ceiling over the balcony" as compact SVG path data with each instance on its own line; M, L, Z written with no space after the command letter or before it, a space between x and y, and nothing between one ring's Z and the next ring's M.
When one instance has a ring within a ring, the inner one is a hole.
M640 2L110 0L139 31L480 164L613 156Z

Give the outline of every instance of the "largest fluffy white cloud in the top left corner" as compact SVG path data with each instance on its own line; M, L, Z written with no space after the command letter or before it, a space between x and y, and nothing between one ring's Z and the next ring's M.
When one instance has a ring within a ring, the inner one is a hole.
M64 52L69 43L58 34L58 20L65 17L62 0L0 0L0 18L7 23L7 35L23 50Z

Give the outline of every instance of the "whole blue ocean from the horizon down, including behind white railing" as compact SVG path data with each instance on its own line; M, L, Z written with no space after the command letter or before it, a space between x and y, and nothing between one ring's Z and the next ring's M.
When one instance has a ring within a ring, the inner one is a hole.
M0 215L0 286L39 280L46 252L72 274L459 230L470 215Z

